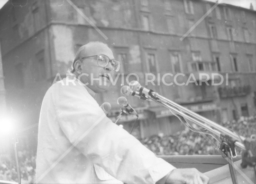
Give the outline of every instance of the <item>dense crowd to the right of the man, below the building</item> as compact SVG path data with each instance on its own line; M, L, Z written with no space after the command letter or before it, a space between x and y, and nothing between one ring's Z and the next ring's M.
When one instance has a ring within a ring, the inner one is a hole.
M249 137L256 134L256 117L240 117L220 125L238 135ZM209 132L208 132L209 133ZM154 135L141 142L156 155L213 155L219 153L219 141L209 134L192 132L186 128L173 135ZM237 149L238 154L241 150Z

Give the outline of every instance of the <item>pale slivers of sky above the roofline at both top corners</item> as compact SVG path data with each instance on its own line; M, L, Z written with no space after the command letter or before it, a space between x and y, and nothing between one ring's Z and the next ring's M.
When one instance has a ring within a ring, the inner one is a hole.
M7 2L8 0L0 0L0 8ZM216 0L208 0L212 2L216 2ZM250 4L253 4L254 10L256 10L256 0L219 0L219 2L232 4L235 6L240 6L243 8L250 8Z

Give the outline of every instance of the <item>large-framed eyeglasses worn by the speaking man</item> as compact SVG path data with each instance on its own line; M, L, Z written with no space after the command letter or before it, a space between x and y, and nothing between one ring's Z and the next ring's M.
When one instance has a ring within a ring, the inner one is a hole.
M113 67L113 71L118 72L120 69L120 65L121 63L119 62L119 60L117 59L110 59L108 56L106 55L95 55L95 56L88 56L88 57L83 57L82 59L86 59L86 58L91 58L91 57L98 57L97 59L97 63L99 67L106 67L109 62L111 63L112 67Z

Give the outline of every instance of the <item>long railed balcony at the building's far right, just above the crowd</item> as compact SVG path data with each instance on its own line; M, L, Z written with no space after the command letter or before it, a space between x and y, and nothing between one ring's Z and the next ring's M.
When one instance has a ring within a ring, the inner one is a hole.
M219 87L220 98L229 98L237 96L246 96L251 92L250 85L235 86L235 87Z

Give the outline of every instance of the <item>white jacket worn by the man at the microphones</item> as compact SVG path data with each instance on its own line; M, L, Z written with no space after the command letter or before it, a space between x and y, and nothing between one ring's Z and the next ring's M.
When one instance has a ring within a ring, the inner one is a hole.
M112 123L93 99L91 89L67 79L51 86L42 103L37 183L165 182L175 167Z

